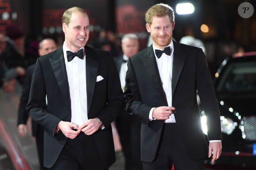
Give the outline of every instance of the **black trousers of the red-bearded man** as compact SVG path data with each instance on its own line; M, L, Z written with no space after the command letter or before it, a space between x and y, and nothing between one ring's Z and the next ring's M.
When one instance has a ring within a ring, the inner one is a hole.
M203 159L192 161L181 141L176 123L164 123L158 152L153 162L143 162L144 170L204 170Z

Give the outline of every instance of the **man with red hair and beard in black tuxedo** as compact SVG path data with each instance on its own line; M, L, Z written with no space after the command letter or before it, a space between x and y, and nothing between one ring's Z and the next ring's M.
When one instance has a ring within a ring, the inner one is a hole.
M144 170L204 170L222 150L218 103L201 48L172 40L174 12L156 4L146 13L153 44L128 59L126 111L141 119ZM209 147L203 136L196 100L207 116Z

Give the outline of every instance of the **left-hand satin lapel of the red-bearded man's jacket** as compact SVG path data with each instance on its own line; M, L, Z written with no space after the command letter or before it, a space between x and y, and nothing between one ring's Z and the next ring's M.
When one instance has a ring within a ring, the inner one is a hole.
M147 70L147 73L150 75L152 81L154 82L156 89L158 90L159 94L162 96L163 101L165 101L167 105L166 95L163 90L162 81L153 52L153 46L151 45L149 48L147 48L145 55L141 56L140 58Z

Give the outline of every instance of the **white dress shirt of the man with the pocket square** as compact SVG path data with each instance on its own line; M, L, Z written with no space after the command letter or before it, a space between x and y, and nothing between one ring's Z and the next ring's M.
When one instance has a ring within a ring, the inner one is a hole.
M81 49L81 48L80 48ZM87 91L86 91L86 60L83 48L83 59L75 57L72 61L67 60L67 51L63 45L65 65L68 75L68 85L71 100L71 122L81 126L88 120L87 116Z

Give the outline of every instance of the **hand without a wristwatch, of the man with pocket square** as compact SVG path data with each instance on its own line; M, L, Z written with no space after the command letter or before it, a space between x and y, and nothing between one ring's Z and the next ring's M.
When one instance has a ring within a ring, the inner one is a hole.
M71 122L60 121L57 128L70 139L75 139L75 137L80 133L80 130L72 130L72 128L78 129L78 126Z

